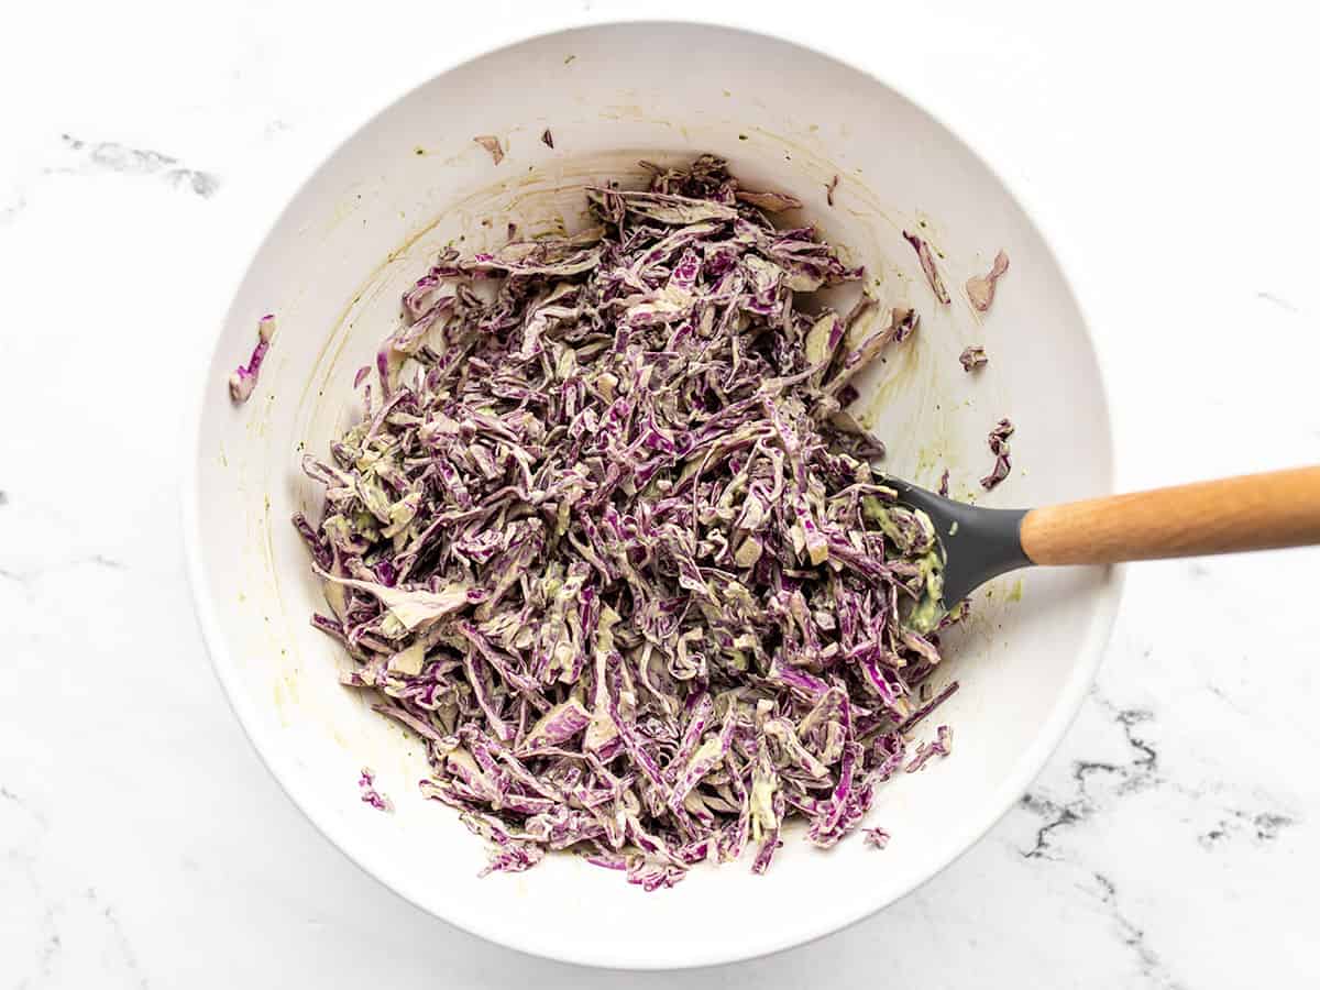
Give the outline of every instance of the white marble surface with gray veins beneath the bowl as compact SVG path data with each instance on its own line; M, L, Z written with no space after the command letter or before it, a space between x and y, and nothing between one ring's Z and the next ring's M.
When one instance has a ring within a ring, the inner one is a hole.
M265 215L264 174L491 40L705 7L129 0L7 16L0 987L672 985L434 921L282 796L191 618L177 372L211 334L214 272ZM1069 7L725 16L879 66L1022 182L1090 306L1125 486L1320 461L1317 16ZM1317 568L1316 550L1133 568L1090 700L989 837L850 931L685 979L1315 986Z

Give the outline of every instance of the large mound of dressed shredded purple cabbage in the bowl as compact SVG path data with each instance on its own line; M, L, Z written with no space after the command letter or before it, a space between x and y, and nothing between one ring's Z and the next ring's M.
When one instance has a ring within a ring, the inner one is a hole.
M591 230L441 255L294 523L343 681L425 742L487 871L573 850L656 890L766 870L788 818L838 842L957 685L915 706L935 532L840 408L915 314L809 310L862 269L770 223L796 199L649 168L587 190Z

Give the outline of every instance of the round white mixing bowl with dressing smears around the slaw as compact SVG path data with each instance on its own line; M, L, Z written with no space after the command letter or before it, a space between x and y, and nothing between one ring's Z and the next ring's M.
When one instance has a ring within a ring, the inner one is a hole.
M541 132L552 128L554 149ZM495 135L499 165L473 143ZM871 75L785 41L690 24L606 25L537 37L453 69L350 137L302 186L252 259L211 355L190 433L185 539L202 628L234 709L271 771L363 869L455 925L560 960L619 968L726 962L783 949L869 915L968 849L1022 795L1076 713L1113 620L1118 577L1030 573L982 599L950 643L962 690L940 711L950 759L882 787L858 838L830 853L796 833L764 876L700 869L645 894L570 855L478 879L482 843L417 791L422 747L342 688L342 663L310 628L321 607L289 525L314 513L300 451L325 451L347 421L354 371L393 325L399 296L451 239L465 248L581 215L581 185L638 178L639 158L726 156L748 185L787 189L832 242L921 313L911 346L863 399L892 470L979 492L985 436L1018 426L1015 470L993 504L1110 490L1109 414L1068 281L1003 182L927 112ZM825 186L840 176L836 203ZM488 222L490 226L484 226ZM939 306L906 227L940 249L953 305ZM964 281L1006 248L1012 268L985 317ZM257 318L279 331L243 407L226 379ZM990 366L957 355L983 343ZM994 590L994 589L993 589ZM1018 603L1016 599L1023 601ZM932 726L933 727L933 726ZM359 801L363 766L396 810Z

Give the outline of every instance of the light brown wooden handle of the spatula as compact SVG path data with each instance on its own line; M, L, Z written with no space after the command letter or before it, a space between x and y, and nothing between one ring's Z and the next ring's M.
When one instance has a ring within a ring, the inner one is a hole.
M1117 564L1320 543L1320 467L1250 474L1028 512L1034 564Z

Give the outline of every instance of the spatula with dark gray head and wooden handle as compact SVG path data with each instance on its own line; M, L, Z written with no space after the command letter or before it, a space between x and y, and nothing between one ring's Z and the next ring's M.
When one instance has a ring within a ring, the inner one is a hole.
M945 557L944 611L1032 565L1118 564L1320 543L1320 467L1250 474L1032 510L978 508L886 478L925 512Z

